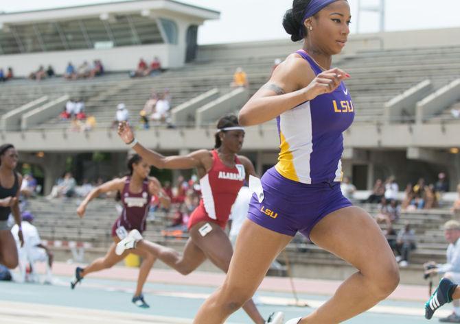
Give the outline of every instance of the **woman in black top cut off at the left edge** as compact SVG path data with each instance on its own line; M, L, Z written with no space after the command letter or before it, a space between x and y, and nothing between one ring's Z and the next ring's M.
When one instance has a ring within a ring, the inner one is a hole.
M14 221L19 226L19 240L24 245L19 212L19 189L23 177L14 171L18 164L18 152L11 144L0 146L0 263L10 269L18 265L16 242L8 226L8 216L12 212Z

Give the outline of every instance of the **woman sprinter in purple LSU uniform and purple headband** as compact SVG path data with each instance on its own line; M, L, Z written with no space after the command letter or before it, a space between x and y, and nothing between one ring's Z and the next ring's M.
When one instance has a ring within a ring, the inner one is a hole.
M279 64L238 116L241 125L277 119L279 162L262 177L262 203L253 196L224 284L194 323L224 323L251 298L297 231L358 272L323 306L288 324L340 323L398 285L398 266L382 231L340 189L342 133L352 124L354 107L342 82L349 75L330 66L347 42L350 18L346 0L294 0L286 12L284 28L293 41L303 39L303 49Z

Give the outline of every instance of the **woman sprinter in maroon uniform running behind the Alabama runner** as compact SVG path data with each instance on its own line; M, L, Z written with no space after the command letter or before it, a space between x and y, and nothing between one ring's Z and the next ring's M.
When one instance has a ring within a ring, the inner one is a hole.
M87 205L91 200L104 192L117 190L123 203L123 212L113 224L112 237L114 243L108 249L106 256L94 260L93 263L84 269L77 267L75 278L71 281L72 289L89 273L111 268L128 255L129 252L126 252L118 256L115 253L115 244L125 238L131 229L137 229L139 232L143 232L146 229L146 217L152 195L157 195L160 202L166 207L170 205L170 198L163 192L158 179L148 177L150 164L145 159L137 154L133 155L128 160L128 170L129 175L126 177L113 179L91 190L84 201L80 203L80 206L78 206L77 214L83 217ZM142 258L139 277L137 278L137 287L132 301L136 306L148 308L148 304L143 299L142 288L150 269L152 269L155 258L152 254L140 251L139 249L134 249L131 252Z

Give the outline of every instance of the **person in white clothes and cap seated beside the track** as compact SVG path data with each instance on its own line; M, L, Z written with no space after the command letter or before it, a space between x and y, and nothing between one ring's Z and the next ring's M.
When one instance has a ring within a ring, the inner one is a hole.
M46 262L46 277L45 283L51 284L51 267L53 266L53 253L42 244L40 235L38 235L38 230L32 221L34 220L34 215L30 212L22 213L22 222L21 228L23 231L24 245L21 247L21 242L19 242L19 227L15 224L11 233L16 241L16 247L19 254L19 271L21 277L19 278L20 282L28 281L36 282L35 276L35 262ZM30 278L27 278L27 265L30 265Z

